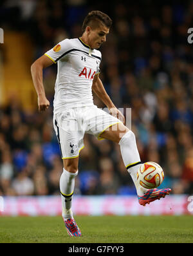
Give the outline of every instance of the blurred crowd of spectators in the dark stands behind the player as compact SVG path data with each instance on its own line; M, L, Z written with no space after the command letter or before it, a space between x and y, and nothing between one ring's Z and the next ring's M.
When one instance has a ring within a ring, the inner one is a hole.
M29 33L33 60L62 39L81 36L87 12L109 14L113 27L100 49L100 78L116 107L131 108L142 161L157 162L165 172L161 187L192 194L193 44L187 41L187 30L193 24L193 1L111 1L111 6L84 0L2 2L1 24ZM44 70L51 103L56 72L57 65ZM119 145L87 134L84 144L77 195L136 195ZM58 195L61 173L52 104L41 114L27 113L15 98L1 106L0 195Z

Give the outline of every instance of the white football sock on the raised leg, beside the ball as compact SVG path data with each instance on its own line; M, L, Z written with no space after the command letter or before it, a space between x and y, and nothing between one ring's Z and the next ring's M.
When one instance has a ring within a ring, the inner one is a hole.
M148 189L143 188L137 182L136 174L142 165L142 162L140 160L140 154L137 149L136 139L133 131L128 131L125 133L125 135L121 138L119 145L125 167L133 179L138 196L142 197Z

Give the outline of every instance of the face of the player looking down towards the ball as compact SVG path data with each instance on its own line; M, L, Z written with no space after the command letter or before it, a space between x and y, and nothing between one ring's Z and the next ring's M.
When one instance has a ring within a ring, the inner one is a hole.
M89 31L89 46L92 49L99 48L102 43L106 41L106 35L109 34L109 28L106 26L101 25L98 28L92 29L90 28Z

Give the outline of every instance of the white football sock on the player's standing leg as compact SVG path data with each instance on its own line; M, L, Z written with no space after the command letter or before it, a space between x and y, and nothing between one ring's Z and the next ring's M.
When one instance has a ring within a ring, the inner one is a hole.
M73 212L71 211L71 200L73 198L73 192L75 188L75 176L76 173L69 173L63 169L63 173L60 176L60 193L62 198L62 217L64 219L69 219L73 217Z

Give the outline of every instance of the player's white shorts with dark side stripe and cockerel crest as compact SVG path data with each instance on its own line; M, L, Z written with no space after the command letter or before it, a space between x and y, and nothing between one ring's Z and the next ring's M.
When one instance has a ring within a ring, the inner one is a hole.
M95 105L77 107L53 114L53 127L57 134L62 159L76 158L84 148L84 134L93 134L100 138L105 130L116 123L118 118L111 116Z

